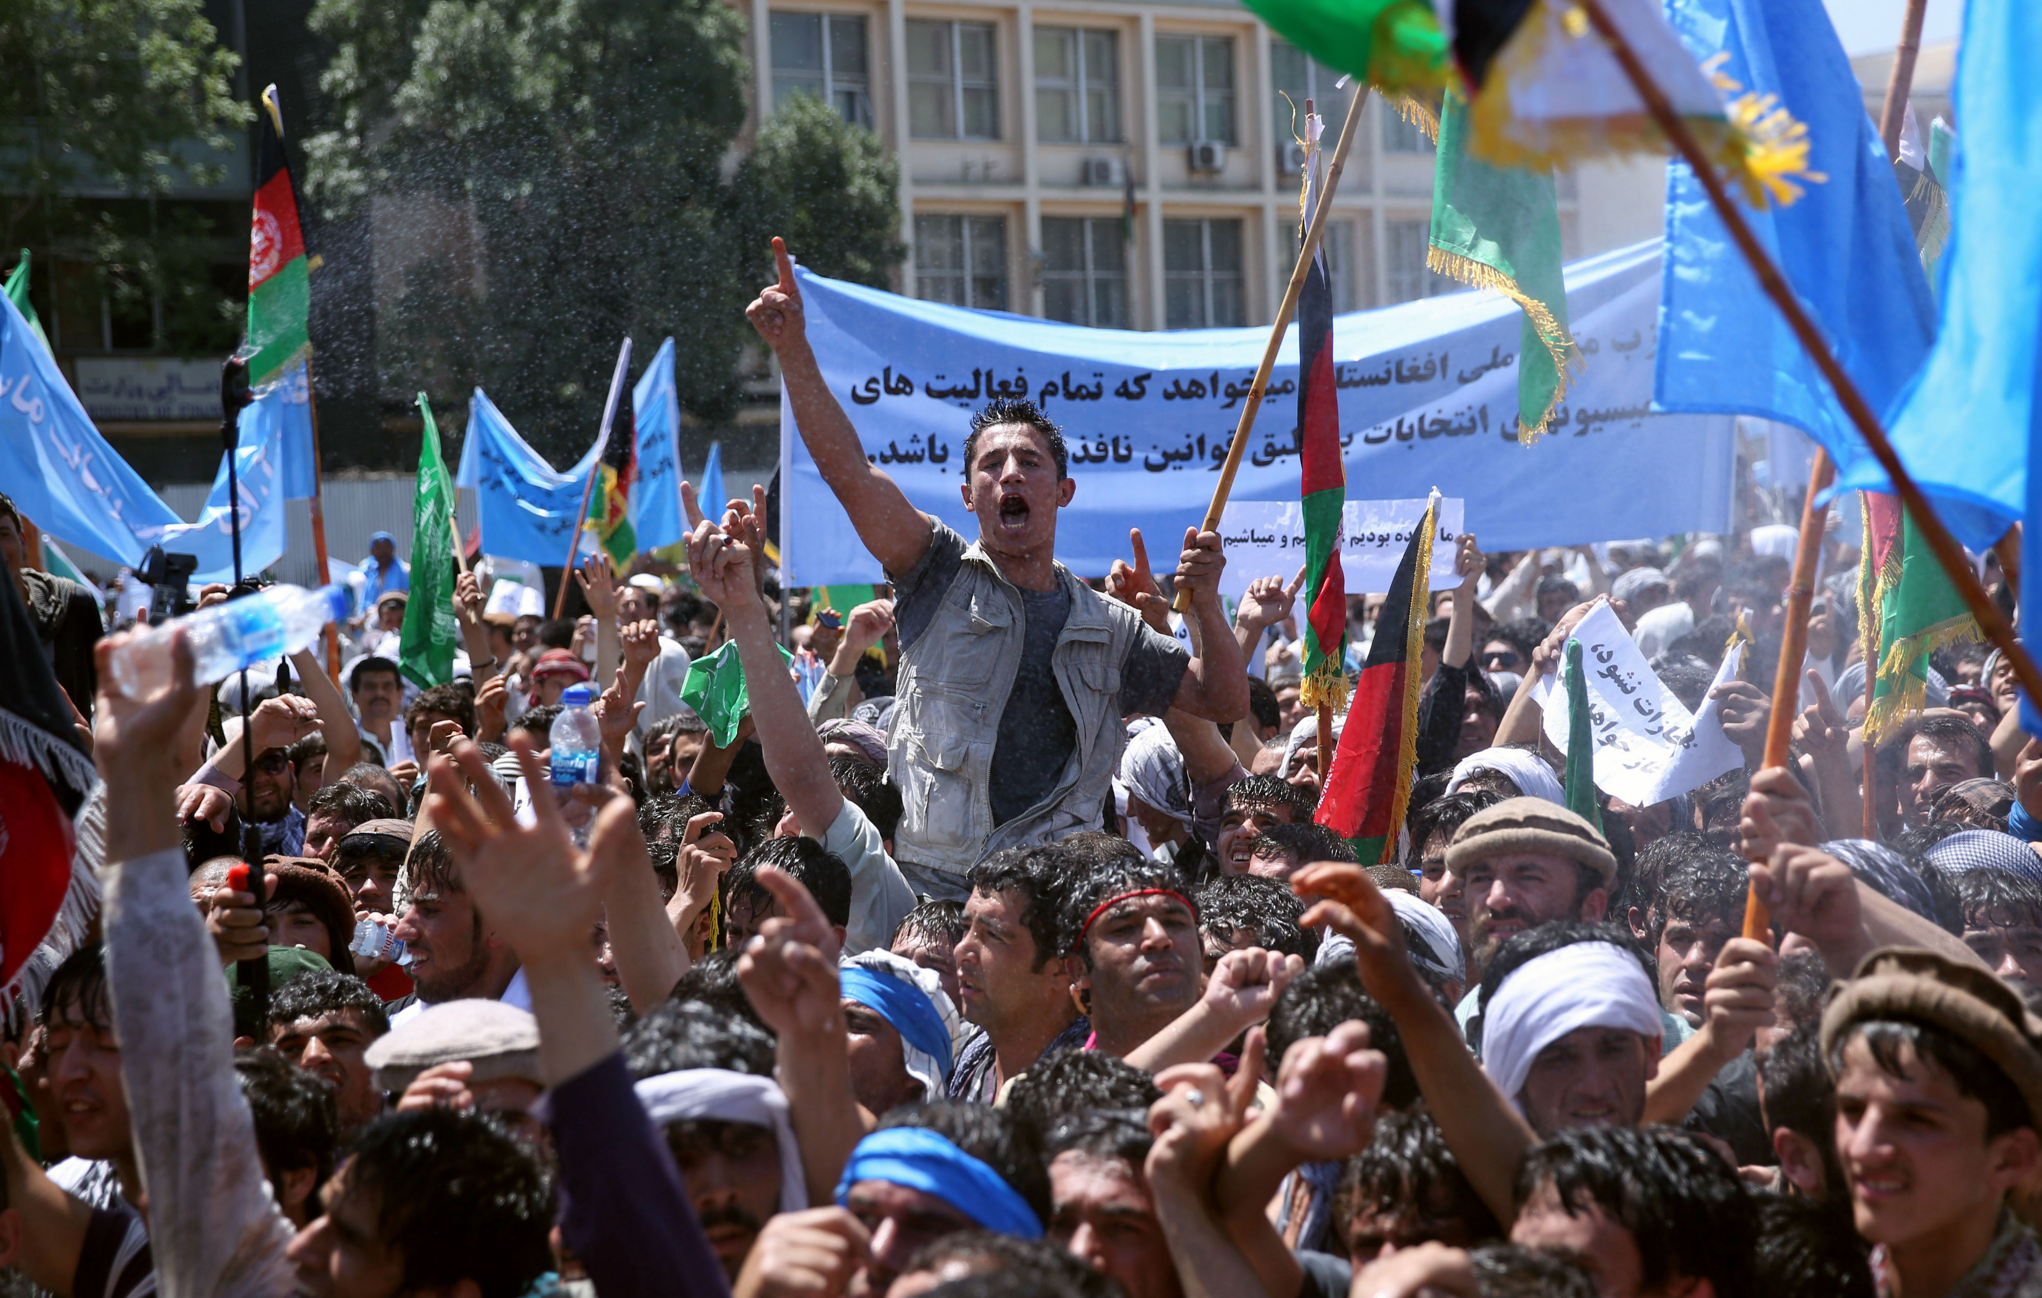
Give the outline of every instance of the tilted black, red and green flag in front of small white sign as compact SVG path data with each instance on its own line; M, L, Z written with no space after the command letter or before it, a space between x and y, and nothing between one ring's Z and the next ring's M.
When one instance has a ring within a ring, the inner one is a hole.
M1431 533L1438 527L1440 500L1433 498L1376 614L1376 639L1368 645L1362 682L1340 731L1333 769L1319 792L1315 820L1350 839L1362 865L1380 865L1397 853L1397 833L1411 802Z

